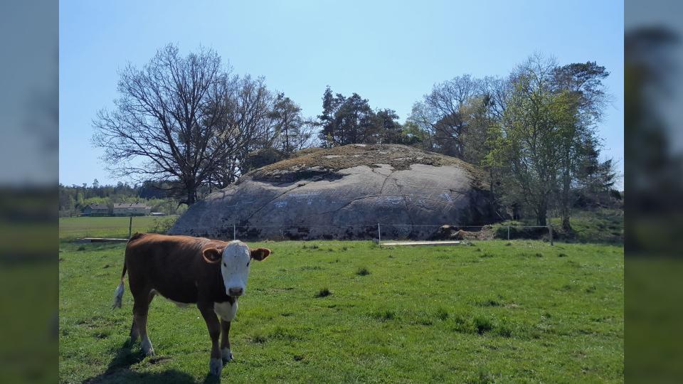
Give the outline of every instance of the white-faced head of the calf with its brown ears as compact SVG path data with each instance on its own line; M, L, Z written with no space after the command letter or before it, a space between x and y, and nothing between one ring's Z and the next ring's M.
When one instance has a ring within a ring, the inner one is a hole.
M268 248L248 247L240 240L228 243L225 248L206 248L204 261L210 264L221 263L221 274L228 296L241 296L247 289L251 260L261 261L270 255Z

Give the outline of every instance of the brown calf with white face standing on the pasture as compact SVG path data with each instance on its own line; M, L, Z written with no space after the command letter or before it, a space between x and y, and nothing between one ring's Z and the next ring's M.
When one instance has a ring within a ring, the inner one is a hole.
M251 249L234 240L225 242L189 236L136 233L128 240L121 283L116 289L115 307L121 307L124 278L133 295L133 324L130 340L142 338L142 351L154 355L147 336L147 311L155 294L185 306L197 304L211 336L209 371L220 375L223 363L231 361L230 322L237 313L238 297L243 295L251 260L270 255L267 248ZM221 321L218 321L218 317ZM218 336L221 346L218 347Z

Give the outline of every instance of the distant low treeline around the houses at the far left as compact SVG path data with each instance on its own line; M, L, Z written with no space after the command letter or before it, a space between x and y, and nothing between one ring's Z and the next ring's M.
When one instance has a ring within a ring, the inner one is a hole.
M129 185L119 182L115 186L100 185L95 178L92 184L81 186L59 185L59 215L78 216L85 206L90 204L145 203L152 212L166 215L180 215L187 209L186 204L179 204L177 198L169 195L158 183L145 182Z

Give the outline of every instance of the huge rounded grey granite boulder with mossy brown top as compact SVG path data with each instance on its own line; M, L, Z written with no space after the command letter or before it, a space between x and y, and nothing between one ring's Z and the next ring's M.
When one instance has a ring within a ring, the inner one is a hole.
M309 149L255 169L195 203L171 234L238 239L426 239L440 225L498 215L485 174L393 144Z

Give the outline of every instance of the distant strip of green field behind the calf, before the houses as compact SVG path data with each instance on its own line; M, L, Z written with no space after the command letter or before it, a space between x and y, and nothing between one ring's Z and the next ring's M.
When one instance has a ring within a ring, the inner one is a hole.
M128 238L129 220L127 217L59 218L59 238ZM176 220L176 217L134 216L132 233L151 232L157 223L167 220Z

